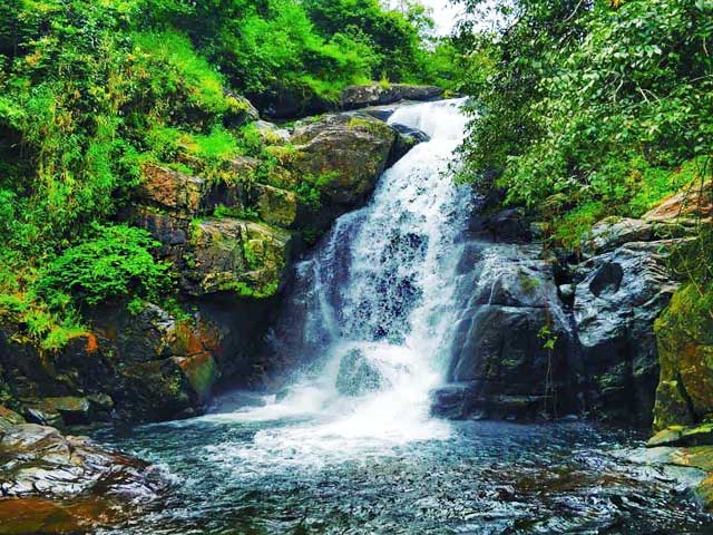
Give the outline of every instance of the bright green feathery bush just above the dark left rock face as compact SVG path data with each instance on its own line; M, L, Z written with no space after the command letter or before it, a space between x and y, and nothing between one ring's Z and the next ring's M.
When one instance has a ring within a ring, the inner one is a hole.
M91 239L67 249L42 270L38 293L51 308L66 303L67 294L88 305L135 295L156 299L170 289L168 265L150 253L158 245L140 228L95 225Z

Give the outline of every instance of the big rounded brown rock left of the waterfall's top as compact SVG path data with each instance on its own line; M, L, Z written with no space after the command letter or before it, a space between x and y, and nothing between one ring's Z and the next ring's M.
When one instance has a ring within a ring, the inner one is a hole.
M291 171L311 177L333 204L354 207L383 172L395 133L369 116L328 115L295 125Z

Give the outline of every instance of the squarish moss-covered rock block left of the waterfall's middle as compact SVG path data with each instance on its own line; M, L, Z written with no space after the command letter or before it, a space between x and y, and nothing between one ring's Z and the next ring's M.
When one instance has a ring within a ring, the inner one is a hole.
M280 288L292 236L262 223L208 218L192 227L189 241L179 278L184 292L264 298Z

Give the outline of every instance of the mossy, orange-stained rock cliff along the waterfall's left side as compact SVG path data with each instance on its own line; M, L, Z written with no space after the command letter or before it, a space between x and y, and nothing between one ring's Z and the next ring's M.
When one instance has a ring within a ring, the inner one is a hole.
M128 309L104 303L87 312L90 332L51 352L6 322L0 403L60 428L155 421L201 412L221 380L256 387L284 372L255 347L292 263L339 215L363 204L412 143L365 113L305 119L291 132L256 126L270 162L236 158L219 181L146 165L121 214L160 243L176 299Z

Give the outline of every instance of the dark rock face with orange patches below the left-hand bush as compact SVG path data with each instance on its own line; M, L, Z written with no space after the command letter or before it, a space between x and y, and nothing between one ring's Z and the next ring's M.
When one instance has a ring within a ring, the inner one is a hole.
M207 401L219 377L207 325L150 303L135 314L107 307L94 324L94 333L50 354L0 331L3 379L29 421L152 421L189 416Z

